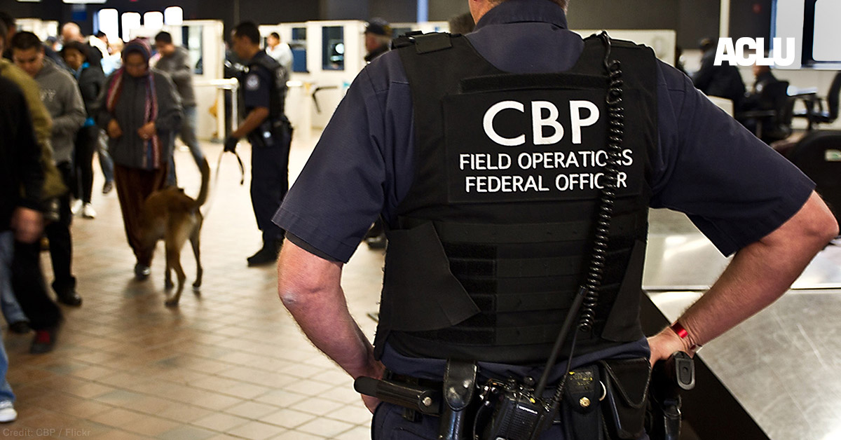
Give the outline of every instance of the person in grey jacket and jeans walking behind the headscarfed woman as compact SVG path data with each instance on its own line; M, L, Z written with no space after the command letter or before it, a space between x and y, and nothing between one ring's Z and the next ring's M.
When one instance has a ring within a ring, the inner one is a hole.
M193 69L190 67L190 53L187 49L172 44L172 34L169 32L160 32L155 35L155 48L161 54L155 68L161 72L166 72L172 78L178 96L181 97L184 120L178 135L181 136L184 145L190 149L190 154L193 155L196 166L201 167L204 162L204 153L202 147L198 145L198 138L196 138L198 111L196 110L196 94L193 91ZM174 136L172 140L175 141ZM174 145L171 146L171 149L174 150ZM169 160L167 183L171 186L176 186L177 183L175 162L172 156Z

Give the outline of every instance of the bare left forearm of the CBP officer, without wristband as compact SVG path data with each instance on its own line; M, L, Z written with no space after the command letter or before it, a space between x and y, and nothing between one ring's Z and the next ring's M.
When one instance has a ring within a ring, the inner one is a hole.
M347 310L341 263L317 257L286 241L278 258L278 295L301 330L354 379L379 377L373 347Z

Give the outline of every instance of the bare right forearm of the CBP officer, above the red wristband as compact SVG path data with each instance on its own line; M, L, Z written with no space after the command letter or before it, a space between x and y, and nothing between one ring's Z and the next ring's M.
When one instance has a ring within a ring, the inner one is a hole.
M716 284L680 317L689 333L686 345L711 341L773 303L837 235L832 213L812 193L790 220L739 251Z

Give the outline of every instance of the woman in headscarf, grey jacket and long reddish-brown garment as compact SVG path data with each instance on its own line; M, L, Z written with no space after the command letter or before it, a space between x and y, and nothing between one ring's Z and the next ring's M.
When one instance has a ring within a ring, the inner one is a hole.
M167 182L169 136L178 130L182 118L175 85L167 74L149 66L150 57L145 40L131 40L124 46L123 66L106 80L96 117L108 134L114 184L139 280L149 277L152 260L140 235L143 202Z

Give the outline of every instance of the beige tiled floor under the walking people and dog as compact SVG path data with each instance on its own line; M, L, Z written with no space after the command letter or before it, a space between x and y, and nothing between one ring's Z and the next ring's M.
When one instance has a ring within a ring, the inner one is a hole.
M295 141L290 170L312 142ZM220 146L206 144L216 169ZM241 155L249 160L247 144ZM198 171L178 151L179 183L198 192ZM84 304L62 306L56 350L29 354L31 335L4 334L8 380L19 420L0 438L294 439L369 438L370 413L352 380L307 342L278 300L272 266L246 268L260 234L233 156L222 162L202 231L204 285L189 285L176 309L164 306L162 245L152 276L133 280L115 193L98 193L95 220L74 221L74 269ZM45 255L46 256L46 255ZM360 247L346 265L352 313L373 336L382 252ZM48 282L49 258L43 258ZM192 284L189 247L182 263Z

